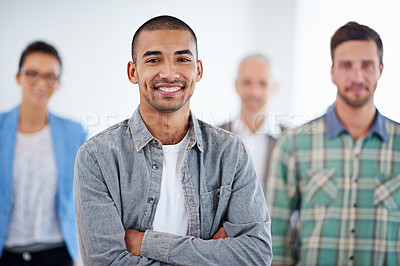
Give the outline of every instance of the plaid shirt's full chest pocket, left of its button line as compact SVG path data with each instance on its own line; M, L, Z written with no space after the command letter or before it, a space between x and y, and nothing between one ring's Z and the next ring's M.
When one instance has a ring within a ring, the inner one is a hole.
M305 187L306 202L317 205L329 205L337 199L338 187L334 182L335 169L312 170L308 172Z

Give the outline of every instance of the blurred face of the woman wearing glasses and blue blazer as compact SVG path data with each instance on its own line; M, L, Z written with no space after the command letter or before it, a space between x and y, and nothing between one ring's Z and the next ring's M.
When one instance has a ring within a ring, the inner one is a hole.
M46 107L60 86L60 62L54 55L34 52L26 56L21 73L16 75L22 87L22 101L31 106Z

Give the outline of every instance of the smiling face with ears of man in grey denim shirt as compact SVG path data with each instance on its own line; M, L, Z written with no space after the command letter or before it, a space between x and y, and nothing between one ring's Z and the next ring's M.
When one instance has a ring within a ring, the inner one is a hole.
M136 49L136 64L129 62L128 76L139 85L141 108L160 113L189 109L189 100L203 67L196 62L193 36L184 30L143 31Z

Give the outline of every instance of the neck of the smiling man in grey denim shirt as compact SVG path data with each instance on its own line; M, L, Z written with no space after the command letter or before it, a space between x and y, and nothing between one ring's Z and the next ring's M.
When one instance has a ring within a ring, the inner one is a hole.
M183 108L173 113L159 113L154 109L144 110L145 108L140 106L139 112L153 137L163 145L173 145L185 137L190 126L190 109L182 110Z

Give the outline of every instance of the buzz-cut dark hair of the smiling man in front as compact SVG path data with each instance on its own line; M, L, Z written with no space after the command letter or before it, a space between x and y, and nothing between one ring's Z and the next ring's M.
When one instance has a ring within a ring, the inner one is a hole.
M135 32L132 39L132 60L133 63L136 63L136 49L138 45L138 39L140 33L142 31L156 31L156 30L183 30L189 31L194 39L194 43L196 45L196 60L198 59L198 52L197 52L197 38L194 31L182 20L172 17L172 16L158 16L146 21L139 29Z

